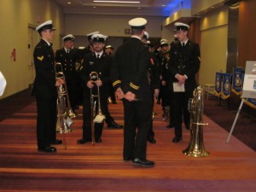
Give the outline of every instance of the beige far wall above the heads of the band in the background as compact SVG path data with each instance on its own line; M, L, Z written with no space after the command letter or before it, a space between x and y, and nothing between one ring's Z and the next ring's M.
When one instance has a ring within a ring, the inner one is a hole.
M128 21L132 18L134 17L125 15L66 15L66 33L85 36L87 33L100 31L112 37L129 37L130 35L125 35L125 28L130 28ZM166 18L151 16L144 18L148 20L146 31L150 37L160 38L161 23Z

